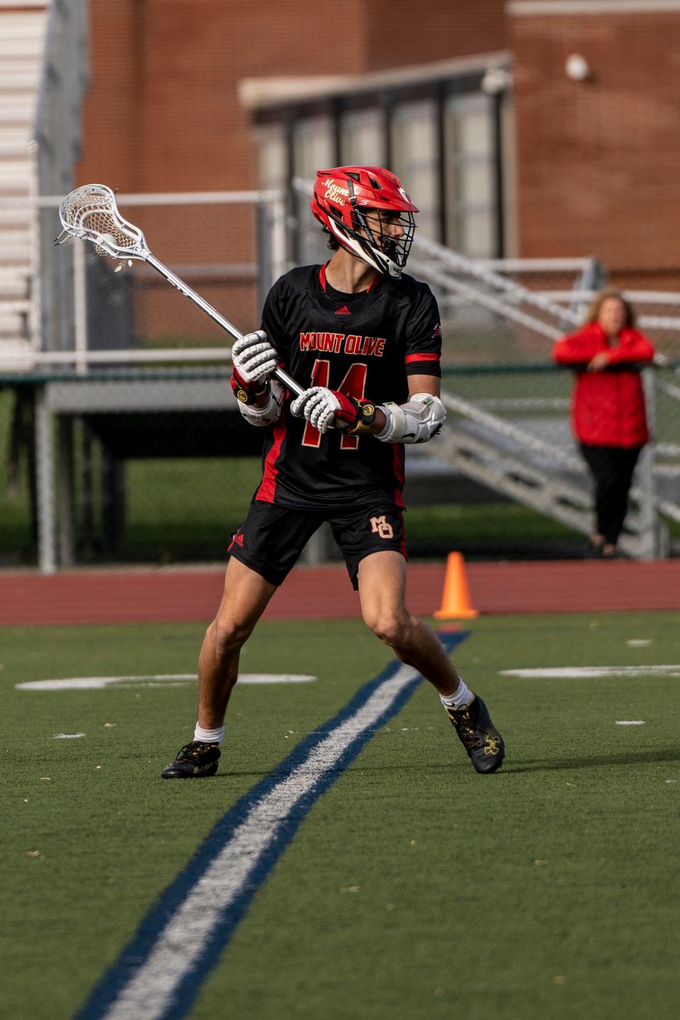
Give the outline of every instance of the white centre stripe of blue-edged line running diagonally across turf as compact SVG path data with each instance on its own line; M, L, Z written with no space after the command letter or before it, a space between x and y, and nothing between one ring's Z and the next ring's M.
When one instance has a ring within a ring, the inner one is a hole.
M402 666L341 723L294 771L253 805L212 864L160 932L146 963L120 990L105 1020L157 1020L174 989L203 954L214 926L239 897L249 874L296 804L333 768L348 746L369 729L417 676Z

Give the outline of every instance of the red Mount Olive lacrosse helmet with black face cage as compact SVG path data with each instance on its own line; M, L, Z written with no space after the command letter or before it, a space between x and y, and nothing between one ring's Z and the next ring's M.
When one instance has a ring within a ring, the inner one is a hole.
M418 207L389 170L379 166L318 170L311 208L343 248L378 272L402 275L413 244L413 214Z

